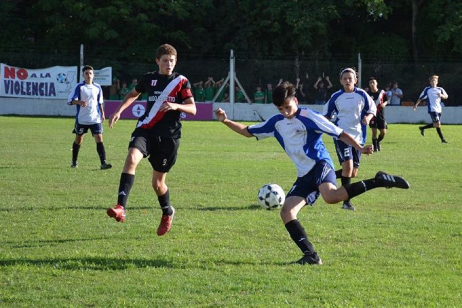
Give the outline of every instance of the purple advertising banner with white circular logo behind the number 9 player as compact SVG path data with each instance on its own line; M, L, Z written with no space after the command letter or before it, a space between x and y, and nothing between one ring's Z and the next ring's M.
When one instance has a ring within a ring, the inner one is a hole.
M104 114L107 118L114 113L115 109L119 107L121 101L105 101L104 103ZM197 112L196 115L190 115L186 113L181 113L181 120L200 120L200 121L209 121L213 120L213 109L214 105L212 103L196 103ZM146 102L144 101L134 101L133 104L128 106L122 114L120 115L121 119L138 119L146 111Z

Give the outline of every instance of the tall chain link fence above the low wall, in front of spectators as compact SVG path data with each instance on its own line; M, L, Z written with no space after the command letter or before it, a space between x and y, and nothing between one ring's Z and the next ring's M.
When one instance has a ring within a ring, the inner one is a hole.
M0 55L0 61L9 65L40 68L53 65L78 65L78 54L70 56L72 53L31 53L24 54L3 54ZM265 89L265 85L271 83L277 85L280 79L290 81L295 84L296 79L304 85L304 91L307 94L307 103L314 103L316 83L319 76L329 76L333 87L329 89L329 95L340 89L339 72L345 67L357 67L358 62L353 60L328 61L316 59L272 59L272 60L241 60L239 56L235 59L236 76L244 87L249 98L253 98L258 85ZM142 73L157 70L157 65L152 63L120 62L110 57L101 59L91 55L85 55L85 63L99 69L106 66L112 67L113 78L119 78L127 84L131 83L133 78L141 78ZM462 63L445 63L445 62L427 62L419 63L397 63L381 60L362 60L361 85L368 86L368 80L374 76L379 88L384 89L387 84L397 81L399 88L403 91L401 101L416 102L421 91L429 85L429 76L439 75L439 86L445 88L449 94L448 100L444 103L446 106L460 106L462 101ZM179 55L176 71L187 76L191 83L206 81L208 77L214 80L226 78L229 71L229 59L190 59L182 58ZM122 84L122 83L121 83ZM109 98L110 87L105 87L105 97Z

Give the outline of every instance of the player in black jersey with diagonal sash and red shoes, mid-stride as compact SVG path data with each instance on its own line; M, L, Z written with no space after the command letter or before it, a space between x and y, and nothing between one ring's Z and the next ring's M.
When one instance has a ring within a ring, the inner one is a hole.
M162 217L157 235L166 234L171 227L175 208L170 206L169 190L165 177L177 160L181 137L180 114L196 114L196 104L191 93L191 84L185 76L174 72L177 51L168 44L161 45L156 52L159 71L143 75L141 81L124 98L109 118L109 127L120 119L121 112L133 103L140 93L147 93L146 112L138 120L131 134L128 155L120 176L117 204L107 209L107 215L117 221L125 221L125 205L133 186L138 163L149 156L152 166L152 188L156 192Z

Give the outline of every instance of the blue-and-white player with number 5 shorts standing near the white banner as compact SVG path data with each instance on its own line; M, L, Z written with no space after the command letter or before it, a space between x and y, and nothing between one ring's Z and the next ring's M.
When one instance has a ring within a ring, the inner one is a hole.
M101 169L110 169L111 164L106 162L106 150L103 144L103 126L105 115L103 108L103 91L101 86L93 82L94 71L89 65L82 68L84 81L75 86L69 94L68 105L76 105L75 126L72 130L75 133L75 140L72 144L72 168L77 167L80 146L83 136L90 129L94 141L97 144L97 152L100 157Z

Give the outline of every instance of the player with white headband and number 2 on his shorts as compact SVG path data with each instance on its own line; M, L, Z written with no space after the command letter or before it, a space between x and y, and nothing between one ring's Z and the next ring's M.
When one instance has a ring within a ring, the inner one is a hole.
M356 71L353 68L343 69L340 72L342 89L332 94L324 105L323 113L328 119L336 113L335 124L363 145L366 140L367 125L375 116L377 107L368 93L355 87L357 82ZM358 174L361 152L342 140L334 139L334 142L338 160L342 165L342 169L336 171L336 177L341 178L342 185L349 184L351 178ZM355 210L350 200L345 200L342 208Z

